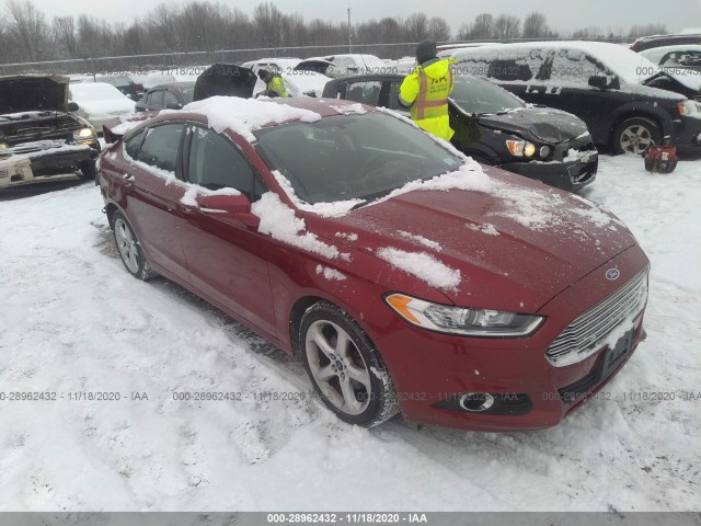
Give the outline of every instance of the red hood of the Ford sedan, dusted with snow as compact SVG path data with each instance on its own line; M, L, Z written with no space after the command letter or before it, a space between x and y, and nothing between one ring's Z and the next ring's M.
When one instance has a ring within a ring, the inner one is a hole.
M491 191L414 191L337 218L306 214L307 227L379 259L386 248L428 253L460 272L457 287L436 287L450 301L515 312L537 312L636 244L616 216L587 199L484 170Z

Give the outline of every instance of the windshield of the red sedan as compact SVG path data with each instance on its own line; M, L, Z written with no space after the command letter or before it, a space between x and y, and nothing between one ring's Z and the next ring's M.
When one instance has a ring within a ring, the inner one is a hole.
M462 164L428 135L382 113L324 117L255 135L268 167L310 204L375 199Z

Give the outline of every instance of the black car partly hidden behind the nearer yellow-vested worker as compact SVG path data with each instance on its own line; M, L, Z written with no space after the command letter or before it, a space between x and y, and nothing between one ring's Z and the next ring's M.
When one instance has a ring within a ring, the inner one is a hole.
M409 112L399 103L404 77L361 75L334 79L323 96ZM508 91L470 76L455 78L449 100L451 142L474 160L579 191L594 182L598 151L586 124L560 110L533 106Z

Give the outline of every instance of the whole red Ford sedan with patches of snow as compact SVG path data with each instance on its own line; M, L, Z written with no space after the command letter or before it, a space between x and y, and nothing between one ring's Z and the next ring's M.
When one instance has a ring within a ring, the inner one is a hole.
M648 261L614 216L386 110L214 96L101 160L126 270L300 357L352 424L553 426L644 336Z

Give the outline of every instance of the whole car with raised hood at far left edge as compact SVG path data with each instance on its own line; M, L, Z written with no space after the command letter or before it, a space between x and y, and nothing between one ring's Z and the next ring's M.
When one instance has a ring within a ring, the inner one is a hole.
M97 135L70 110L67 77L0 77L0 190L93 175Z

